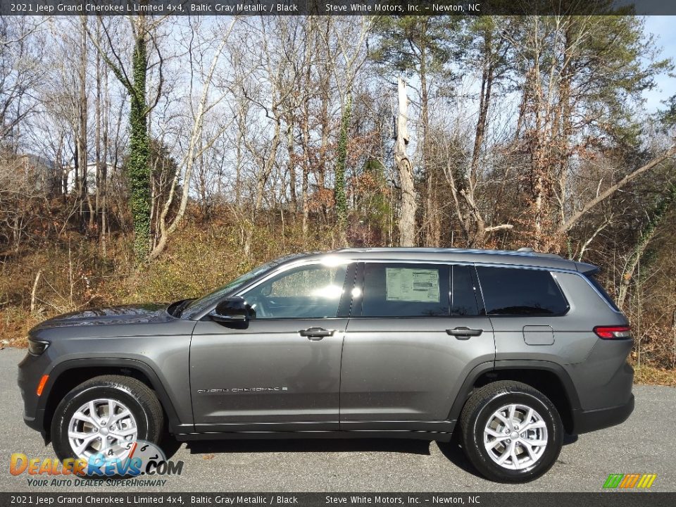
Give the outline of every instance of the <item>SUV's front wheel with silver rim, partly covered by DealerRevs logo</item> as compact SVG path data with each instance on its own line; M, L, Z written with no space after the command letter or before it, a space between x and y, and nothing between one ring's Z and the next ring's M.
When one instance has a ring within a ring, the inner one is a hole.
M102 375L82 382L58 404L51 421L52 446L62 461L99 452L124 458L129 446L122 442L157 444L163 425L162 406L146 384L132 377ZM84 438L71 438L69 430Z

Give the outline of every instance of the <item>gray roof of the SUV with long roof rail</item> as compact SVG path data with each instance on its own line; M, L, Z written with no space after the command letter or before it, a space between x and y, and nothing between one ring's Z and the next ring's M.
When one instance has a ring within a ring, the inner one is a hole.
M555 253L539 253L532 249L483 250L451 248L345 248L327 252L306 253L305 258L349 258L355 261L432 261L471 262L486 264L522 265L537 268L577 270L583 273L596 271L591 264L570 261ZM298 259L298 257L296 257Z

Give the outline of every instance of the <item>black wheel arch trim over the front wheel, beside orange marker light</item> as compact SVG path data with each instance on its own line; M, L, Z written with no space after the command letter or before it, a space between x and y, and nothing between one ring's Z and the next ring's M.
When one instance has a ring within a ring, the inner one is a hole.
M45 391L47 396L42 401L42 427L44 438L48 442L51 438L51 420L63 396L82 382L100 375L124 375L132 377L153 389L160 402L167 426L170 432L180 425L174 403L163 387L158 375L151 366L143 361L130 358L94 358L72 359L56 365L49 374L49 383Z

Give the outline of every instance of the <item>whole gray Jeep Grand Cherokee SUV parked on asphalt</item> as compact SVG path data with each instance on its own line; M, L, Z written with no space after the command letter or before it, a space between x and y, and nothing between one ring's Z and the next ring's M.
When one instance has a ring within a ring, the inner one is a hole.
M125 442L164 429L449 441L457 427L483 475L525 482L564 432L634 407L630 329L597 270L532 251L287 256L201 299L33 328L24 419L62 459L124 458Z

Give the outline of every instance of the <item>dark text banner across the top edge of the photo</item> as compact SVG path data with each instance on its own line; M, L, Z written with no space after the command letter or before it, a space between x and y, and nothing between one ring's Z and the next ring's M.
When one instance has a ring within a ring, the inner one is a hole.
M676 15L675 0L1 0L0 15Z

